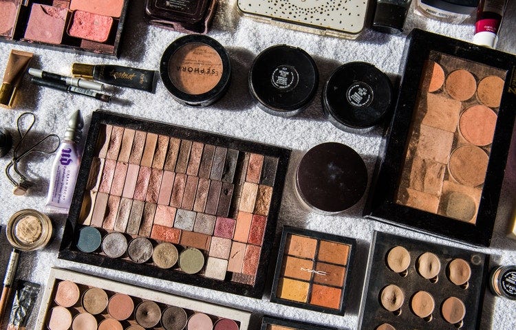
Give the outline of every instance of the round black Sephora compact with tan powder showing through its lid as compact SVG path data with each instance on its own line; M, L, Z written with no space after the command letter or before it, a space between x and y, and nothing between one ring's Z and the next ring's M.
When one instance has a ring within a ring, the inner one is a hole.
M172 97L191 107L206 107L229 87L231 65L222 45L209 36L176 39L161 58L160 76Z

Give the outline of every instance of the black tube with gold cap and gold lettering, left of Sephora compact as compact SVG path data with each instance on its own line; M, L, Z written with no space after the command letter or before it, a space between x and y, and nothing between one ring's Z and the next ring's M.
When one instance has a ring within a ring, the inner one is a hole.
M154 93L156 87L155 71L121 67L120 65L89 65L74 63L72 76L95 79L109 85L142 89Z

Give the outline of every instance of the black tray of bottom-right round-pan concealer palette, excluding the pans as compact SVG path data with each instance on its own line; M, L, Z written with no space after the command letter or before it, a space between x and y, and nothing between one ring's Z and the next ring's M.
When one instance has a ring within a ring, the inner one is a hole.
M396 246L401 246L409 252L410 263L406 276L394 272L387 266L387 255ZM432 283L430 280L422 277L418 270L416 270L418 257L425 252L436 254L440 261L440 271L436 283ZM468 285L461 287L449 281L447 269L453 259L462 259L469 263L471 277L469 278ZM444 300L452 296L462 300L466 307L466 314L460 329L479 329L484 290L488 277L488 259L488 255L480 252L436 245L394 234L375 232L369 251L367 277L365 278L360 313L361 325L358 329L376 329L376 327L383 323L387 323L396 330L456 330L458 327L444 320L441 312ZM400 307L400 315L396 315L397 312L387 311L387 309L380 305L380 293L387 285L396 285L403 292L405 298ZM411 298L413 294L420 291L431 294L435 303L431 313L431 320L429 321L416 316L411 310Z

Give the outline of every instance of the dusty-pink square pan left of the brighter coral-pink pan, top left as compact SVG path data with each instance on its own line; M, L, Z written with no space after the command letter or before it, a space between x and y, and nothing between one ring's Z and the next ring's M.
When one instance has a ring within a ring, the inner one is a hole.
M58 45L63 39L68 10L32 3L25 39Z

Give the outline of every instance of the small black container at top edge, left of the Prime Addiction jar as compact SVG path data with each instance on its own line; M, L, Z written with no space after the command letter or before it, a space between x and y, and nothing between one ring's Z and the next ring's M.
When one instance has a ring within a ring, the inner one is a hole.
M389 2L376 3L373 19L374 30L384 33L402 32L409 5L408 1L404 5Z

